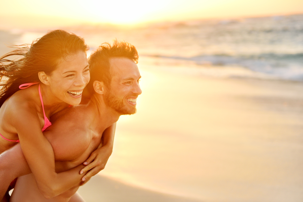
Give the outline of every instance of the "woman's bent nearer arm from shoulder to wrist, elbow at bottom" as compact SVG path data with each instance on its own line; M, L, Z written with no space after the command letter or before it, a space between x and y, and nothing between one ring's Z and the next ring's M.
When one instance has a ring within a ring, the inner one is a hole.
M42 134L38 114L32 106L23 104L16 107L11 121L15 123L22 152L45 198L55 197L79 184L84 175L79 175L83 165L56 173L52 146Z

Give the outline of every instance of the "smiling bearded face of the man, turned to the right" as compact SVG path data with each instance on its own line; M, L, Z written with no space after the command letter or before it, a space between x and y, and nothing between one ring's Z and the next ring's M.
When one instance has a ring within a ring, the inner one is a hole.
M128 58L110 58L113 75L105 94L105 103L120 114L136 113L136 98L142 93L138 66Z

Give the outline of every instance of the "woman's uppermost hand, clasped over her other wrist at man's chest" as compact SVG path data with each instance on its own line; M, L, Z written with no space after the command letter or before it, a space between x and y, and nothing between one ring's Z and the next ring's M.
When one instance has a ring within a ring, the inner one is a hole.
M80 174L89 171L82 177L82 181L89 180L91 177L102 171L112 152L113 147L108 145L104 145L103 147L93 151L90 157L83 163L86 167L80 171Z

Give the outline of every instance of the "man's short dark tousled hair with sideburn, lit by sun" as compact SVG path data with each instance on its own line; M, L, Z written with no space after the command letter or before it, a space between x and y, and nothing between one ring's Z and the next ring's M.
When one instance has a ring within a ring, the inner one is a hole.
M138 63L138 52L136 48L123 41L114 41L112 45L109 43L103 43L99 48L94 51L88 59L90 81L87 84L87 89L90 94L93 94L93 82L103 81L106 86L109 86L112 75L110 74L110 58L128 58L133 60L136 64Z

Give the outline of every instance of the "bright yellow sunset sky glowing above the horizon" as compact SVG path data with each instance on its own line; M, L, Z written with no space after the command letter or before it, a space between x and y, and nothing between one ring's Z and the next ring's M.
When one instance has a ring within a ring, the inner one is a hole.
M303 13L302 0L0 0L0 28L240 18Z

